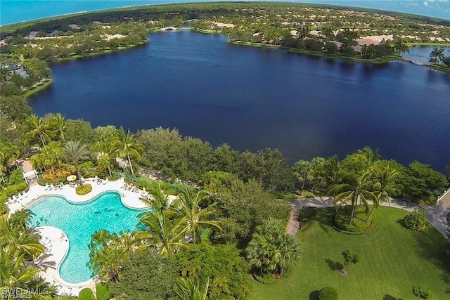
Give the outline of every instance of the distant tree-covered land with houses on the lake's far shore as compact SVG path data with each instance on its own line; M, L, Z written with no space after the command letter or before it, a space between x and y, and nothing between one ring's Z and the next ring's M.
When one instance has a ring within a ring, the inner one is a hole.
M186 25L233 44L359 63L410 60L409 45L450 46L450 21L405 13L278 2L137 6L0 27L0 82L30 96L49 85L49 62L139 46L150 32ZM444 50L423 64L450 73Z

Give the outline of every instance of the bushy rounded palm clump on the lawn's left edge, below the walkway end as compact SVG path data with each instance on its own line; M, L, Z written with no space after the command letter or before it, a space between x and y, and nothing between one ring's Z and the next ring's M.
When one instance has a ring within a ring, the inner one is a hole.
M259 275L277 273L296 263L302 252L299 242L285 233L280 220L268 219L258 226L245 249L247 259Z

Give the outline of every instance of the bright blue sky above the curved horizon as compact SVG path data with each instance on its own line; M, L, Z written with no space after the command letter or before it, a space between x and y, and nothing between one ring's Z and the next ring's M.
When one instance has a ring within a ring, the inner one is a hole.
M123 6L212 0L0 0L0 25ZM221 0L226 1L226 0ZM233 1L233 0L232 0ZM236 0L234 0L236 1ZM245 1L245 0L241 0ZM378 8L450 20L450 0L275 0Z

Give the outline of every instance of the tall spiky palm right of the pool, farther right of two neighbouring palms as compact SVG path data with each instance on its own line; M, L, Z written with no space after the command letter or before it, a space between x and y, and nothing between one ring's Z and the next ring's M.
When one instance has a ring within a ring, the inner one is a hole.
M186 234L192 235L193 244L197 243L197 237L201 237L200 228L210 228L214 226L221 230L219 222L210 220L212 214L215 213L214 205L210 204L207 207L200 207L201 202L205 202L207 193L202 190L195 192L192 188L185 188L179 193L179 199L174 203L174 206L179 205L181 208L181 215L188 221ZM205 233L203 230L203 233Z

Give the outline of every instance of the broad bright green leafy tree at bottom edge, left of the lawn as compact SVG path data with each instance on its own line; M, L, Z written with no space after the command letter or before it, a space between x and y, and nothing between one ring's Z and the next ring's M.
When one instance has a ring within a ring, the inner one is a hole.
M181 275L196 277L200 286L209 283L210 299L246 299L252 282L248 263L233 245L198 244L176 256Z

